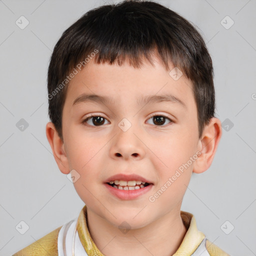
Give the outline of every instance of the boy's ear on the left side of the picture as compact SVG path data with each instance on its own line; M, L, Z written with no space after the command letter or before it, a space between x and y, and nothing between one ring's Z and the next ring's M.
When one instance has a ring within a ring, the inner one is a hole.
M48 122L46 124L46 137L49 141L58 168L62 173L68 174L70 170L68 168L68 160L64 149L64 143L59 137L55 129L55 126L52 122Z

